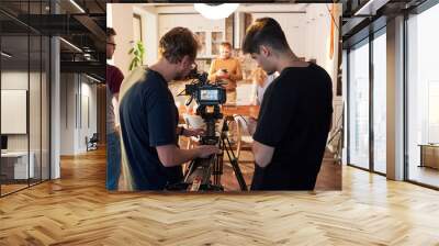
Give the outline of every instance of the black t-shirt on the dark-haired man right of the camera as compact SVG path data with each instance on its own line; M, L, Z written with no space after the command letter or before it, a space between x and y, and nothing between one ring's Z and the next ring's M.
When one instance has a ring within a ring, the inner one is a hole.
M267 88L254 139L274 147L255 165L252 190L313 190L333 113L333 86L319 66L289 67Z

